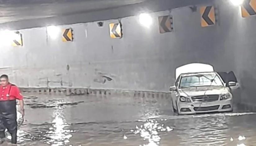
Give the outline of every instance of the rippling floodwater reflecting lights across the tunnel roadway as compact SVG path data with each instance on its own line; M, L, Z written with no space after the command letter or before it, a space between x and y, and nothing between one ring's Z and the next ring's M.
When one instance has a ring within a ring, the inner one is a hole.
M252 146L256 113L178 116L169 98L34 95L18 145Z

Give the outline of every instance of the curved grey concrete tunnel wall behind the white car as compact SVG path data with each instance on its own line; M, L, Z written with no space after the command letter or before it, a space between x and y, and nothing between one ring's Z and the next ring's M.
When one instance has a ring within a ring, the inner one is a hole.
M109 37L108 24L73 24L74 42L49 38L46 28L20 30L24 46L1 46L1 73L19 86L73 86L168 91L176 67L191 62L233 70L243 96L255 90L255 16L242 18L239 7L216 1L218 24L202 28L200 12L189 7L153 13L150 28L138 16L121 19L124 36ZM174 32L159 33L158 16L173 15ZM110 79L107 80L107 78ZM255 100L256 101L256 100Z

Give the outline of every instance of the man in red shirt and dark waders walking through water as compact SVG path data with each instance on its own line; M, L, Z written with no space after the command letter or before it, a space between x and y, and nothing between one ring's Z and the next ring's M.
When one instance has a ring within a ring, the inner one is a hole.
M16 85L9 82L8 76L0 76L0 138L5 138L5 130L11 134L11 143L17 143L16 100L20 103L20 113L24 116L23 96Z

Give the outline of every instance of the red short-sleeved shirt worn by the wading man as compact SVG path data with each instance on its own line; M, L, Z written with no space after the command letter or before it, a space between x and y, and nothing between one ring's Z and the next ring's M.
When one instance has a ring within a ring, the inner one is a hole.
M20 93L20 89L11 83L7 86L0 85L0 101L6 100L23 100L23 96Z

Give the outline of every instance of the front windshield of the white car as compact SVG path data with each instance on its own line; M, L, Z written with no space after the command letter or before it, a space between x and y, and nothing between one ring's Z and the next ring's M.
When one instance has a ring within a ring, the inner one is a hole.
M180 88L198 87L198 86L223 86L216 73L195 74L181 77Z

